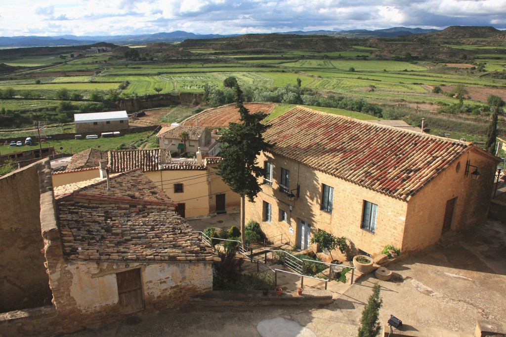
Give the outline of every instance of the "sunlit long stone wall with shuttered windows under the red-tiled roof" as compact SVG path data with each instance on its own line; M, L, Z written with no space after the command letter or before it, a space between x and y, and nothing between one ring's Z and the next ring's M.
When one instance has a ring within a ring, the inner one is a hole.
M297 244L300 233L299 220L310 223L311 236L319 229L336 236L346 236L351 240L351 252L358 249L369 254L380 252L386 245L400 247L404 230L407 203L388 197L358 184L335 178L305 165L285 159L273 158L270 154L259 157L260 166L264 161L273 163L273 183L263 185L255 203L246 203L246 222L254 219L261 224L267 237L283 243ZM281 168L290 170L289 189L295 194L300 185L298 200L289 201L287 195L279 191ZM333 187L333 208L331 213L320 210L322 184ZM376 231L374 234L361 229L364 200L378 205ZM271 222L263 221L264 204L272 205ZM292 211L290 211L290 206ZM288 215L288 222L280 219L280 210ZM315 249L316 247L313 247Z

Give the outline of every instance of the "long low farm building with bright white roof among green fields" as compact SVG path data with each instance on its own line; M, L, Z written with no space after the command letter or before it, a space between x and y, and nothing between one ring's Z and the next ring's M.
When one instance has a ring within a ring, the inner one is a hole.
M101 132L128 129L126 111L74 114L75 132Z

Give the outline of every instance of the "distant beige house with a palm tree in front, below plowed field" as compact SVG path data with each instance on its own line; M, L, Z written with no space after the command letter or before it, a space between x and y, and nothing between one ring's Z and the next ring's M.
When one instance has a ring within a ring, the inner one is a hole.
M187 133L188 137L181 140L181 134ZM217 137L211 135L211 131L202 126L175 126L163 128L157 135L160 149L177 152L187 152L195 155L200 149L204 156L216 156L220 152Z

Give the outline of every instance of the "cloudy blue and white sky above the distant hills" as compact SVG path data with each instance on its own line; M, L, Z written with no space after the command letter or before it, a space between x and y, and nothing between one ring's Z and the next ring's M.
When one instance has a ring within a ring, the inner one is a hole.
M506 0L0 0L0 36L506 29Z

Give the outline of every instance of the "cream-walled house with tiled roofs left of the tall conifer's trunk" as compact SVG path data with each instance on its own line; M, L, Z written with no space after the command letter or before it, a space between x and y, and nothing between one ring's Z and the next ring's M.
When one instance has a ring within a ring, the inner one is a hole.
M177 212L182 217L240 209L240 197L216 175L220 160L217 157L199 159L200 164L198 161L168 162L166 152L161 149L111 150L102 152L101 156L107 158L111 173L140 169L177 204ZM74 157L66 170L53 172L54 187L100 176L98 162L101 157L97 150L86 150Z

